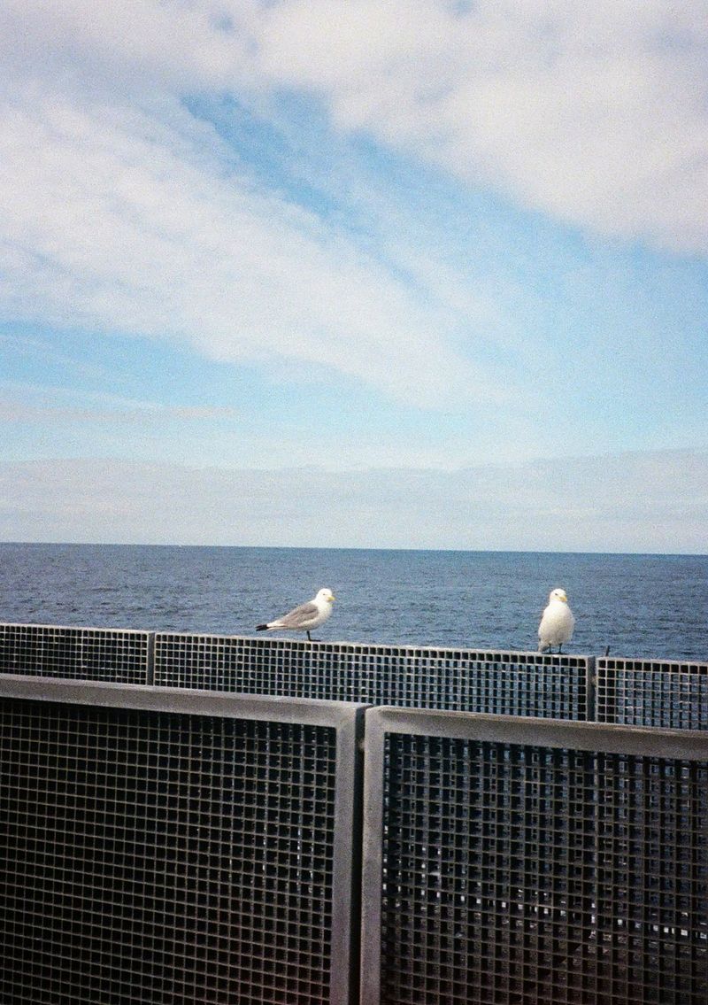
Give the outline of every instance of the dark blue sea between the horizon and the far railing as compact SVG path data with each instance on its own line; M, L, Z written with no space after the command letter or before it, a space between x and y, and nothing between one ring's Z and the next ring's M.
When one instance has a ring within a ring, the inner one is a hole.
M708 556L0 544L0 621L255 634L336 596L326 641L535 649L548 592L564 651L708 660Z

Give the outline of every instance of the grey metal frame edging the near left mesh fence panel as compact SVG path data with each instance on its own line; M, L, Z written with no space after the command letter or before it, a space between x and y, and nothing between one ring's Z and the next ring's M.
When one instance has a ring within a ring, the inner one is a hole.
M361 775L366 707L343 701L244 696L223 691L0 673L0 701L8 698L333 729L336 764L329 994L332 1005L355 1005L359 983Z

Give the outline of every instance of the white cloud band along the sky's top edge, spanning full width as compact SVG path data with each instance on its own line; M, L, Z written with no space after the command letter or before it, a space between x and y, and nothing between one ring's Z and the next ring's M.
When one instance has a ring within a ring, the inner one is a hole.
M10 66L65 86L309 90L345 131L582 227L705 252L708 5L7 0Z

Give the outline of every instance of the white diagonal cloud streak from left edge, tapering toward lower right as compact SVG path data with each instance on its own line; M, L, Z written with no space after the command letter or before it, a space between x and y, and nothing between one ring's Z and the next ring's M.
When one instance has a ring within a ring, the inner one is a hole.
M160 111L79 106L42 87L5 96L6 318L172 337L219 360L297 361L426 406L443 392L498 399L439 337L449 312L345 233L258 191L228 156L210 161L178 103Z

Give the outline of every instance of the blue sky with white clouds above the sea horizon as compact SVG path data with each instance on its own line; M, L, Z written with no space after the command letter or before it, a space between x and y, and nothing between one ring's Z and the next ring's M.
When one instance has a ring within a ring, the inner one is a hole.
M708 0L4 0L0 540L706 552Z

